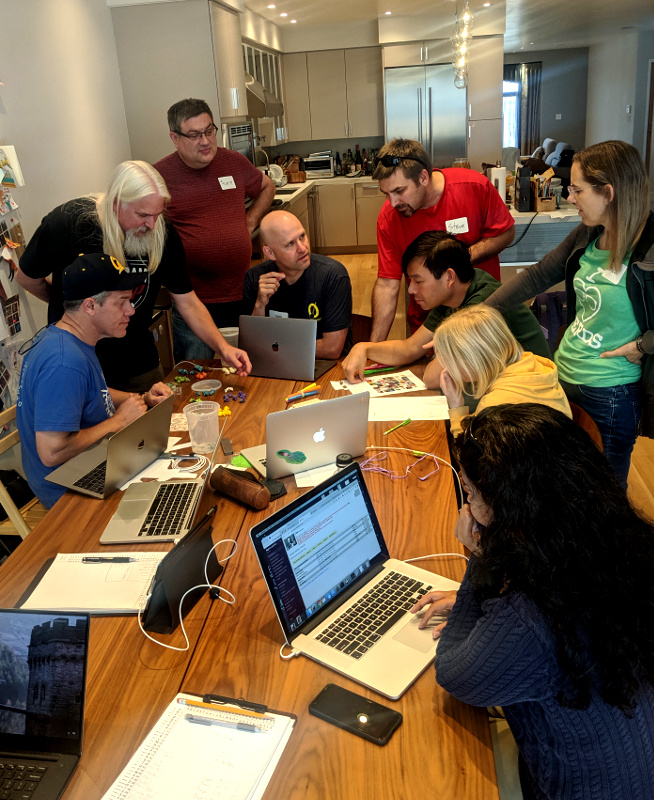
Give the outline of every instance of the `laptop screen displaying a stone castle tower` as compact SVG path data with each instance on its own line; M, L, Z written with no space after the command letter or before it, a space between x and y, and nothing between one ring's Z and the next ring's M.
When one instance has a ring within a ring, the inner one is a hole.
M81 752L89 619L0 609L0 750Z

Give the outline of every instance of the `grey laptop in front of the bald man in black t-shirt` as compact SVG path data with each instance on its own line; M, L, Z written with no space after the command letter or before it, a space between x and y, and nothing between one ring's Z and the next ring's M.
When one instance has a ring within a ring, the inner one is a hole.
M315 319L239 317L238 346L252 363L251 375L314 381L335 361L316 361Z

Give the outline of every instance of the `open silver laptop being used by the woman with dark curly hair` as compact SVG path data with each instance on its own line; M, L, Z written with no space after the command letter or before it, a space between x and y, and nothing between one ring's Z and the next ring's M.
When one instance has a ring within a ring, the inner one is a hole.
M358 464L255 525L250 537L295 651L393 700L434 659L431 630L419 630L409 609L432 589L458 584L389 557Z

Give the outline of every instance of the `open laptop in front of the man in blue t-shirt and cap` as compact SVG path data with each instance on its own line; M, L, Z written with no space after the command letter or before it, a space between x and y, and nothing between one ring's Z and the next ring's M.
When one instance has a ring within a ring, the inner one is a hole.
M99 500L109 497L164 452L173 402L174 395L167 397L122 431L73 456L46 480Z

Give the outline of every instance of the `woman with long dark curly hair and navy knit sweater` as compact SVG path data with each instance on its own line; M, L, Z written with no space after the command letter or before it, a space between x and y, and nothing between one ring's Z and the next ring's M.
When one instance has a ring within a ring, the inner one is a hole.
M587 434L544 405L463 421L472 551L455 598L431 592L438 682L501 705L525 798L654 797L654 528ZM454 593L452 593L454 594Z

